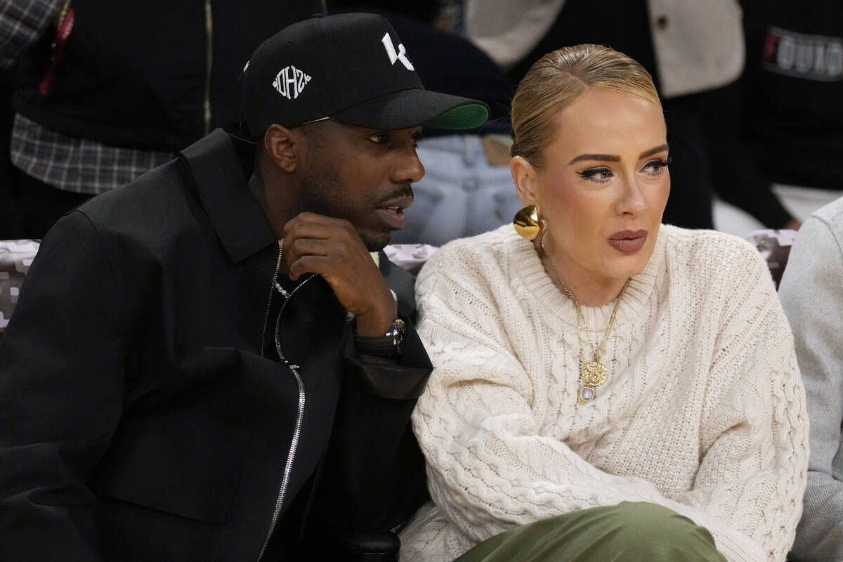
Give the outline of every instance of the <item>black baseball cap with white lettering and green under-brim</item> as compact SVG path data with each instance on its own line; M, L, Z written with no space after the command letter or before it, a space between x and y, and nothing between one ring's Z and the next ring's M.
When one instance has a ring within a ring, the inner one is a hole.
M474 129L476 99L426 90L392 25L373 13L316 16L264 41L244 67L240 108L252 137L330 117L373 129Z

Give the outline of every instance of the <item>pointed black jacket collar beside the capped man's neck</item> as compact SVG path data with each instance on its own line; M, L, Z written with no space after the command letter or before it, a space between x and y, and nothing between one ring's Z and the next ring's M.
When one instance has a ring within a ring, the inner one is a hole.
M234 263L277 244L249 189L254 150L250 142L216 129L180 152L217 237Z

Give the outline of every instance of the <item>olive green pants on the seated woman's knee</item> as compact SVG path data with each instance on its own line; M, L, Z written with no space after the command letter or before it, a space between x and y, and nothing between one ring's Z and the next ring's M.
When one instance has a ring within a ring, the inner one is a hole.
M666 507L623 502L515 527L455 562L726 562L704 527Z

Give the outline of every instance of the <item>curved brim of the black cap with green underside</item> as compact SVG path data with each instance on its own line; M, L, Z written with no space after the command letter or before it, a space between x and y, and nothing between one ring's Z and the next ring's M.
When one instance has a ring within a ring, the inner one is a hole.
M489 106L476 99L410 88L367 99L330 117L373 129L475 129L489 119Z

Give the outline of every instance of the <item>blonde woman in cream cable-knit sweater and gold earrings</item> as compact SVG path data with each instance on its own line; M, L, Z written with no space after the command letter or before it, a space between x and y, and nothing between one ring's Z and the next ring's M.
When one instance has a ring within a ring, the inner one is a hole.
M402 560L783 560L807 463L792 336L751 245L660 224L652 79L554 51L513 137L518 232L446 245L416 284L433 502Z

